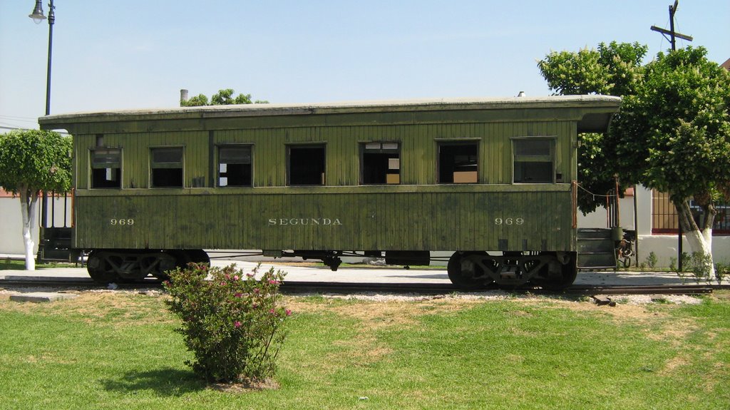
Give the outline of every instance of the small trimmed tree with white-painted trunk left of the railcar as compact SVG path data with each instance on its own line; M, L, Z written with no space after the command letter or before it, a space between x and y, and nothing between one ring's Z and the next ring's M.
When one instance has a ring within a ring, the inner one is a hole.
M53 131L10 131L0 135L0 186L20 198L26 269L35 270L33 248L41 191L71 187L71 138Z

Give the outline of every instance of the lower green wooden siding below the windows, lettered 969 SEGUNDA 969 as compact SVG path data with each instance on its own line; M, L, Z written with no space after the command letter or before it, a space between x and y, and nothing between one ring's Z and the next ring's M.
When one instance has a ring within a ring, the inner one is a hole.
M79 196L75 246L572 251L569 189Z

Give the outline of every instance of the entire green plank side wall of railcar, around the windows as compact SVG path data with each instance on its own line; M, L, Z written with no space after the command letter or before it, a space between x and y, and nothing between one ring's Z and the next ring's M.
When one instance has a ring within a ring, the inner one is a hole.
M556 172L565 184L511 185L510 139L523 136L556 137ZM480 184L436 185L439 142L462 139L479 144ZM359 143L378 141L400 142L401 185L358 186ZM104 146L123 150L123 190L88 189L95 142L95 134L74 136L80 248L575 250L572 121L105 134ZM195 178L215 181L211 150L233 143L253 144L254 187L188 189ZM326 144L328 187L285 187L286 146L304 143ZM162 146L184 147L186 189L147 189L150 147ZM523 224L494 222L518 217ZM308 218L340 224L269 223Z

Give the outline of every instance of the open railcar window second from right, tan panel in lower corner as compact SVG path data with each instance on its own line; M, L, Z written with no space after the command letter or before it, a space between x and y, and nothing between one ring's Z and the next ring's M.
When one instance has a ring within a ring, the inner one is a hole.
M478 152L479 144L476 142L439 144L439 183L477 183Z

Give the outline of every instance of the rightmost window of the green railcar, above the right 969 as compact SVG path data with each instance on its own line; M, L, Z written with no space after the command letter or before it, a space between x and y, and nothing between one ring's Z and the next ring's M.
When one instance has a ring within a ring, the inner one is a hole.
M554 139L513 139L514 182L527 184L555 182L554 145Z

